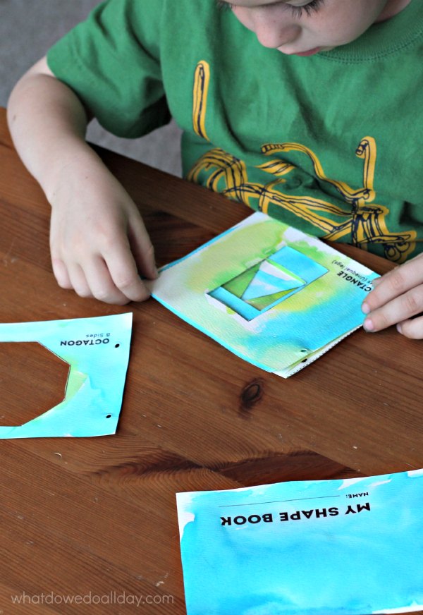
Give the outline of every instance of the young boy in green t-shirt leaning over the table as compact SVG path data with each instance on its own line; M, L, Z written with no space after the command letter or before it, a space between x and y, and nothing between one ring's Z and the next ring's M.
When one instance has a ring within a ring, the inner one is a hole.
M96 116L133 138L173 116L191 181L396 262L363 304L364 327L423 338L422 51L421 0L98 6L8 104L51 203L60 286L147 298L138 274L157 275L152 245L85 128Z

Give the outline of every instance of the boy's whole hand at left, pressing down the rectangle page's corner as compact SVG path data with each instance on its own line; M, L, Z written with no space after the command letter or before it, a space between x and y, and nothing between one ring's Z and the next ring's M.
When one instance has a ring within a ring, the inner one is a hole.
M49 200L59 286L118 305L149 297L140 274L157 277L152 243L135 203L102 163L66 166Z

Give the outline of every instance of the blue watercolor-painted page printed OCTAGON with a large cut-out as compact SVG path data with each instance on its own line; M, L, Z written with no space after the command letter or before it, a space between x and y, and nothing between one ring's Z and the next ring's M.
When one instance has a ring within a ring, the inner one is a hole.
M128 369L132 314L0 324L0 341L38 342L69 364L64 398L0 439L114 434Z

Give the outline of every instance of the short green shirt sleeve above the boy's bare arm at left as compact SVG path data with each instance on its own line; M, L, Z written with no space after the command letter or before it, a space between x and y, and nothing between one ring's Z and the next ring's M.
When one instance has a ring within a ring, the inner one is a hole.
M47 63L106 130L136 138L170 120L161 79L162 0L106 0Z

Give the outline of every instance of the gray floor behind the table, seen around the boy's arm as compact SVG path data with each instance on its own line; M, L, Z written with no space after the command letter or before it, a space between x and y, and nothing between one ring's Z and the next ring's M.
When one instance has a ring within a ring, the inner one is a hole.
M0 106L6 106L20 75L96 4L98 0L0 0ZM180 130L173 122L136 140L118 139L92 122L87 138L180 175Z

